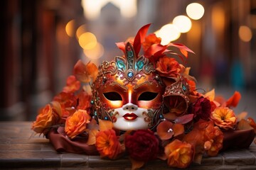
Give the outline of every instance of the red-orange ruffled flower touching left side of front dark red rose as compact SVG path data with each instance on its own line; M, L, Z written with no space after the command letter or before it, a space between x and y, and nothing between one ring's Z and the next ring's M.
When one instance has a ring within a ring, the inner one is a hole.
M122 152L121 144L112 129L98 132L95 146L101 157L116 159L118 154Z

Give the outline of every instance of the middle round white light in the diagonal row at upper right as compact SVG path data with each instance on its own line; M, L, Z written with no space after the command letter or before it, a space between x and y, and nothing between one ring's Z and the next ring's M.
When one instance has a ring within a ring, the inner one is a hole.
M174 18L173 24L181 33L187 33L192 26L191 20L187 16L176 16Z

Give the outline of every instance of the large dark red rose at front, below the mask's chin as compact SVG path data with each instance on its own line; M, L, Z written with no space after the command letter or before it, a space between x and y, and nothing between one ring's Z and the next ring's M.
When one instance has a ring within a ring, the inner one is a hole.
M159 153L159 140L151 130L137 130L124 140L129 156L137 161L147 162L156 159Z

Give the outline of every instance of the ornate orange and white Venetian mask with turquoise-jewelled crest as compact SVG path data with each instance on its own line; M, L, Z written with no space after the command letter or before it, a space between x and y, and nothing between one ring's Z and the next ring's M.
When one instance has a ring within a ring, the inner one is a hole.
M92 114L96 120L110 120L118 130L154 128L163 118L165 85L154 65L137 57L131 43L124 57L102 62L92 84Z

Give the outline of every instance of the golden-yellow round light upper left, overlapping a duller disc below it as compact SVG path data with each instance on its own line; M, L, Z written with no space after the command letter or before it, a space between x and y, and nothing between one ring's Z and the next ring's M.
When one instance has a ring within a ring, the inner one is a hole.
M90 50L97 45L97 38L94 34L86 32L80 35L78 42L84 50Z

